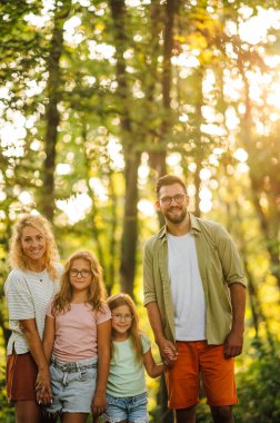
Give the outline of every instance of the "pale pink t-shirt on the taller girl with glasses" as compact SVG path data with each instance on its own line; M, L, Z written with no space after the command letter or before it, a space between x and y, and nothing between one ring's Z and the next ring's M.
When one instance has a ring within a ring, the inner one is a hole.
M92 311L84 303L71 303L70 311L53 316L50 303L47 316L56 318L56 334L52 354L63 362L77 362L98 354L97 325L111 318L110 308L102 303L102 309Z

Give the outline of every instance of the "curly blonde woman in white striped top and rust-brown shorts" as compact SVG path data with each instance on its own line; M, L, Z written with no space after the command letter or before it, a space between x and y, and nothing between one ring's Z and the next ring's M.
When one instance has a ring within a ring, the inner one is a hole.
M54 237L43 216L29 214L16 223L9 263L12 270L4 284L12 332L7 351L8 402L16 404L17 423L39 423L42 415L37 391L46 402L51 397L41 340L48 304L62 273Z

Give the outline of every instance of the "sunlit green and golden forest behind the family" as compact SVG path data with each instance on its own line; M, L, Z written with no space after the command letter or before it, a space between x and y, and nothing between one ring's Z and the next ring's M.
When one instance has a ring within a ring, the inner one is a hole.
M236 422L280 422L279 0L2 0L0 37L0 421L13 422L3 284L17 217L48 217L62 264L93 252L108 294L132 295L151 335L142 250L162 225L154 181L174 174L246 272ZM172 422L163 381L147 383L150 422ZM197 421L211 422L203 394Z

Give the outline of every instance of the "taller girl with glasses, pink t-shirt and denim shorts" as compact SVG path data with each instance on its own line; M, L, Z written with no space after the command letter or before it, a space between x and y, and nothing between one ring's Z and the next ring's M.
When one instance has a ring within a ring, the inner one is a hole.
M63 423L83 423L90 411L104 412L110 334L102 269L90 253L78 252L64 266L43 336L52 388L47 411L62 415Z

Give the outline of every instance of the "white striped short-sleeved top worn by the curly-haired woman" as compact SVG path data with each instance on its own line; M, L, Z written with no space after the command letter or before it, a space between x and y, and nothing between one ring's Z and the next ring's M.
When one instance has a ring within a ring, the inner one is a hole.
M59 289L59 279L63 267L58 264L59 278L52 281L48 272L31 272L16 268L4 283L4 294L9 309L9 328L12 331L7 354L24 354L30 351L27 338L20 328L20 321L34 318L42 340L44 317L48 305Z

